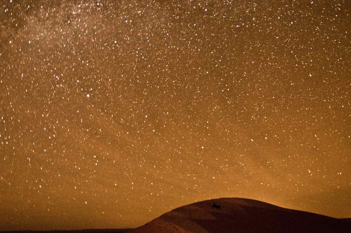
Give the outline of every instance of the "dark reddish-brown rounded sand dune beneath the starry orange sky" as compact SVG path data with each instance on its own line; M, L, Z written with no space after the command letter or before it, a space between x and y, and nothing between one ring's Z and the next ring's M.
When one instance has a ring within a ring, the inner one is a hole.
M243 198L220 198L176 208L127 233L350 233L336 219Z

